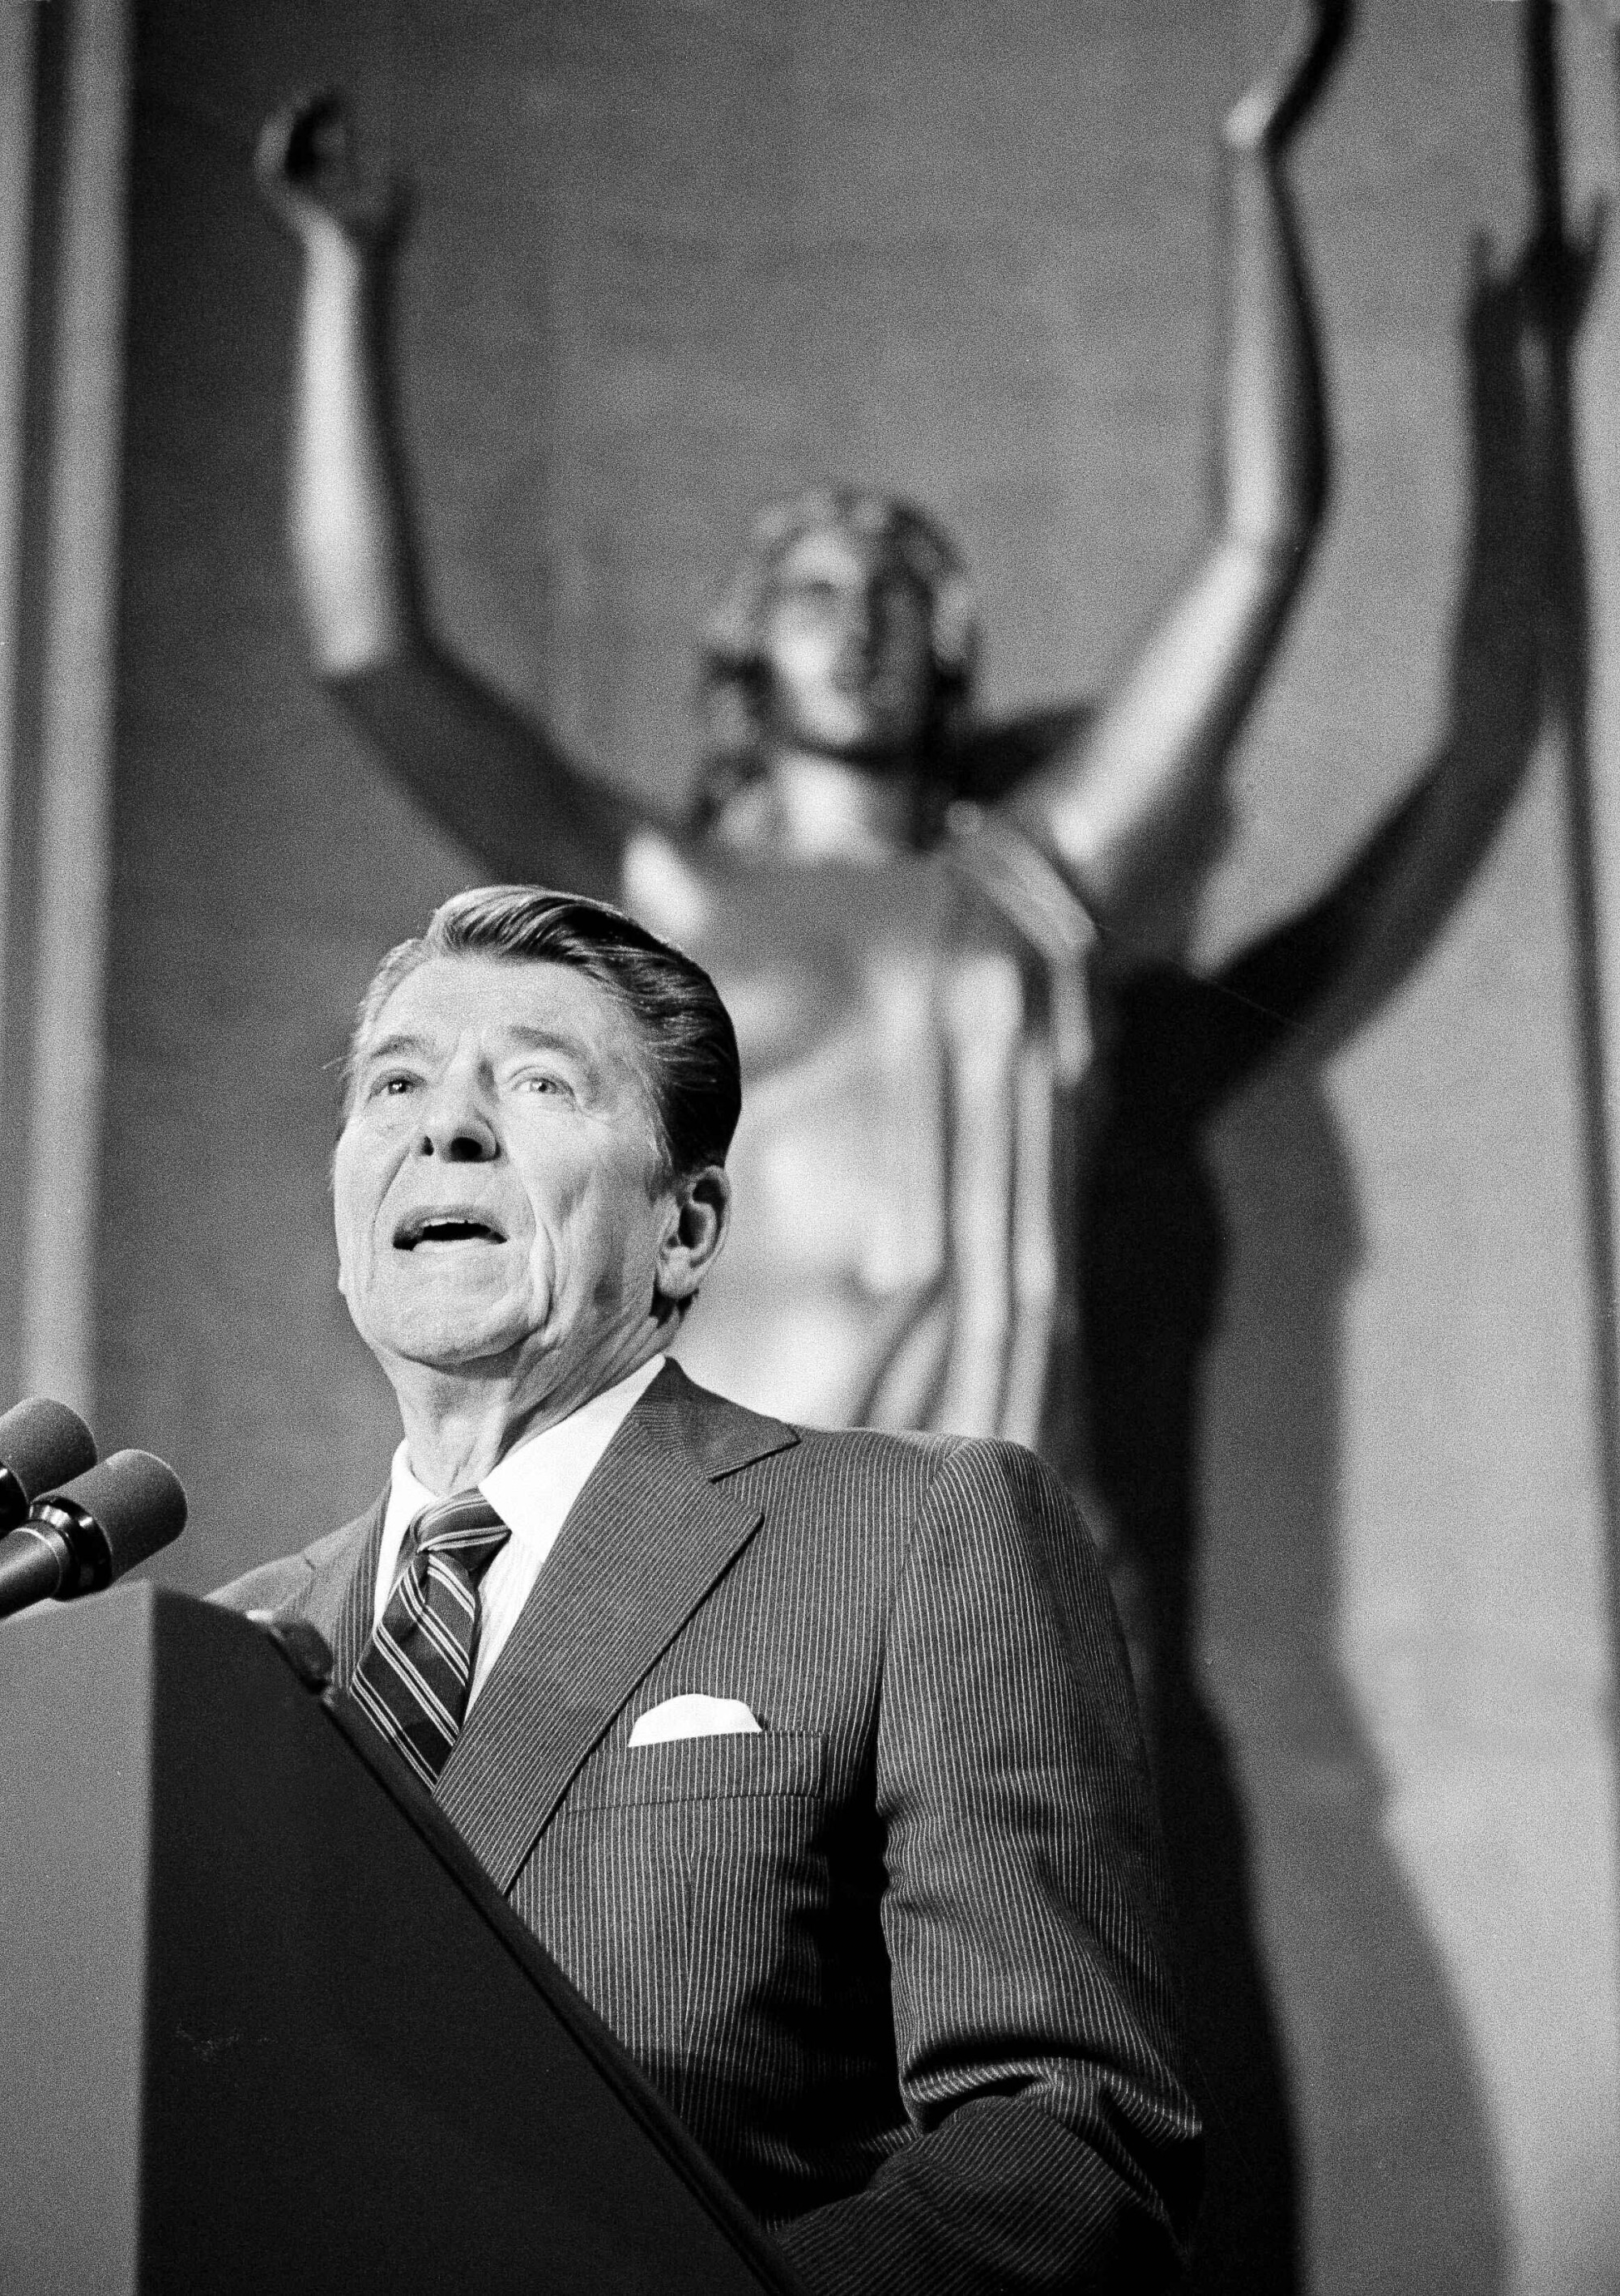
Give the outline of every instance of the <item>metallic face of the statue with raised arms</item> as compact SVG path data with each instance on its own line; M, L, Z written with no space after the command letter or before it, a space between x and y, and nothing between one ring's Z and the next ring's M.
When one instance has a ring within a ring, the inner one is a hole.
M885 544L816 528L777 569L765 664L779 742L866 765L905 758L933 693L928 602Z

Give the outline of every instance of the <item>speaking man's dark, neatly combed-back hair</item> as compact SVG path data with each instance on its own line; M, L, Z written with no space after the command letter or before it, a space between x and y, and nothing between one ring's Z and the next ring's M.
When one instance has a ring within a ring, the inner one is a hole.
M345 1061L342 1116L377 1015L434 957L572 964L618 999L637 1029L653 1104L659 1182L724 1164L742 1109L731 1015L701 964L604 900L535 884L485 884L441 902L427 930L391 948L361 996Z

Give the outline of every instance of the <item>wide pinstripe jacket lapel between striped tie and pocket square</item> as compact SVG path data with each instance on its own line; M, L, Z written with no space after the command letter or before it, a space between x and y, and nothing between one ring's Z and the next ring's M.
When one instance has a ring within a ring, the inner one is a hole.
M501 1890L758 1529L761 1508L715 1476L795 1440L669 1366L607 1446L439 1777L441 1809Z

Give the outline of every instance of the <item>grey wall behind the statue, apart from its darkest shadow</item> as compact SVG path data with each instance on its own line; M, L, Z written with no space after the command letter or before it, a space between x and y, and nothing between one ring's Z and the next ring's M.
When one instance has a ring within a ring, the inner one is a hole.
M381 1476L388 1396L333 1286L331 1063L377 953L469 875L303 675L262 115L335 80L418 186L400 317L443 625L673 799L701 604L797 480L951 523L990 712L1096 691L1199 533L1213 126L1280 16L138 11L94 1387L103 1440L188 1483L175 1582L285 1550ZM1560 28L1574 174L1613 184L1611 37L1592 9ZM1491 0L1372 0L1303 140L1337 501L1241 755L1206 960L1307 898L1443 737L1471 264L1530 214L1521 30ZM1604 278L1579 363L1599 829L1613 372ZM1583 1097L1606 875L1599 854L1588 914L1581 790L1553 728L1415 971L1197 1148L1213 1329L1181 1566L1206 1775L1234 1800L1209 1805L1229 1901L1186 1910L1236 1956L1216 1988L1245 1970L1202 2041L1206 2287L1620 2287L1611 1300Z

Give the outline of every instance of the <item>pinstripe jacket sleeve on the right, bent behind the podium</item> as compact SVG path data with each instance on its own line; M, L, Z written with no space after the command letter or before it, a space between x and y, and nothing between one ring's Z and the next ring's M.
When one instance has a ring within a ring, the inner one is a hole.
M1011 1444L961 1444L921 1508L875 1793L915 2138L781 2245L827 2296L1172 2287L1199 2126L1142 1733L1091 1541Z

